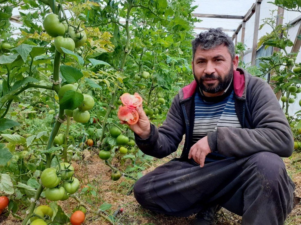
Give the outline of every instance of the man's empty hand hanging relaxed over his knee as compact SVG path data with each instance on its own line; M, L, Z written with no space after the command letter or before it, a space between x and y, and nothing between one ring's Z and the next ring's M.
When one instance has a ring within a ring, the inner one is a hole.
M188 159L193 158L194 161L200 164L200 167L204 166L206 155L211 152L211 149L208 144L208 138L203 137L202 139L198 140L193 146L191 146Z

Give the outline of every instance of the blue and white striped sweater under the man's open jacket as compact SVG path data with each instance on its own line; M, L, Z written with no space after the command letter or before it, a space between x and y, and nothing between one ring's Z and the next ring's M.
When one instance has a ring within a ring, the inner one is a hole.
M197 91L194 97L195 117L192 142L196 143L207 136L210 131L216 131L218 127L241 128L234 107L233 85L221 96L209 98ZM228 158L217 152L209 153L205 163ZM192 162L196 164L193 159Z

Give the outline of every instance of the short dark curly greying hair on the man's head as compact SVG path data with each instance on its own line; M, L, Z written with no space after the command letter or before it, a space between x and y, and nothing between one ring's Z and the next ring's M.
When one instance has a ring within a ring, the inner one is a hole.
M221 44L228 47L228 51L233 59L235 57L234 43L232 39L222 31L222 28L210 28L208 31L201 32L191 41L192 59L194 58L197 48L200 47L201 49L207 50L213 49Z

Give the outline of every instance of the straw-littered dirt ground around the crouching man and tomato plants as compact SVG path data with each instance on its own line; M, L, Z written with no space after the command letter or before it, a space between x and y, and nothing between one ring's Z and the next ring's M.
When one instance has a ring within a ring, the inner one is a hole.
M174 155L173 155L174 156ZM169 161L173 156L166 157L162 160L154 160L143 171L143 174L153 170L160 164ZM301 153L294 153L291 158L284 159L289 175L296 184L295 200L293 211L287 217L285 225L300 225L301 224L301 163L292 164L293 161L300 159ZM118 181L110 179L111 170L100 160L98 155L93 152L84 152L83 160L73 162L76 177L80 179L83 185L89 183L92 189L89 192L79 192L78 197L85 202L85 205L92 210L97 211L98 207L103 203L110 203L112 207L107 210L108 214L112 214L119 207L123 207L124 211L117 214L114 224L124 225L188 225L193 221L194 216L190 217L170 217L161 214L155 214L145 210L136 202L131 191L134 181L122 177ZM59 201L59 205L63 208L66 214L71 214L72 209L78 205L76 200L69 198L67 201ZM24 215L20 215L24 217ZM222 208L217 213L216 225L238 225L241 217ZM8 217L3 213L0 216L1 225L19 225L21 220L17 220L12 215ZM89 225L109 225L110 223L104 220L103 217L88 211L84 224Z

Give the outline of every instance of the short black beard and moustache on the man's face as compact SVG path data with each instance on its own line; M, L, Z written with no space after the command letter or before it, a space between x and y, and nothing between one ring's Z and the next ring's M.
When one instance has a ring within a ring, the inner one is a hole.
M199 85L199 87L202 91L205 91L205 92L211 93L211 94L215 94L217 92L225 90L229 86L232 76L233 76L233 63L231 64L231 67L230 67L227 75L224 77L224 79L220 76L214 75L213 73L211 73L211 74L206 73L200 79L197 79L197 77L194 74L194 71L193 71L193 75L194 75L194 79L197 81L197 84ZM219 82L216 86L215 86L215 84L204 85L204 79L217 79Z

